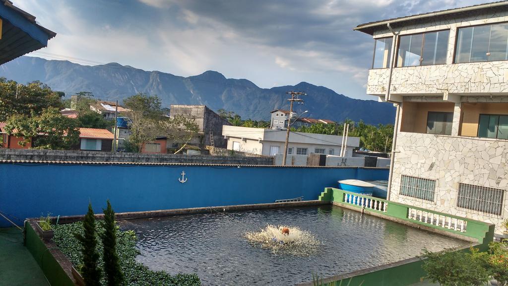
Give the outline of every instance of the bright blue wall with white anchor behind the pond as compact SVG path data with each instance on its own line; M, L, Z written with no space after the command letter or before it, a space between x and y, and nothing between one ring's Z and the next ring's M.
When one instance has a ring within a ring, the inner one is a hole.
M178 181L185 171L187 182ZM388 180L388 169L0 164L0 211L18 218L80 215L88 202L102 213L317 199L337 180ZM0 227L9 223L0 217Z

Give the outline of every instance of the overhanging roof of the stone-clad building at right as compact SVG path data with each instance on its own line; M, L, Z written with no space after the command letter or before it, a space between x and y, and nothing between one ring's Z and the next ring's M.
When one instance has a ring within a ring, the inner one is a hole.
M383 28L386 27L388 23L407 23L411 21L418 21L418 20L427 20L429 18L436 18L436 17L447 17L453 16L454 14L469 12L469 11L478 11L478 10L485 10L485 9L496 9L499 10L504 6L505 9L508 9L508 1L499 1L499 2L493 2L493 3L486 3L486 4L478 4L478 5L472 5L462 8L453 8L453 9L447 9L447 10L441 10L436 12L429 12L429 13L422 13L422 14L416 14L411 16L404 16L404 17L398 17L398 18L391 18L386 20L380 20L380 21L374 21L374 22L368 22L364 24L360 24L353 28L353 30L361 31L363 33L373 35L374 31L377 30L380 26L383 26Z

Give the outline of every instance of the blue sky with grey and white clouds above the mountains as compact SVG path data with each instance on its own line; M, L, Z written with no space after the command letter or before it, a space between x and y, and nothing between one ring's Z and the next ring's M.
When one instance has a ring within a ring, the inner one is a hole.
M57 33L32 56L87 65L115 62L179 76L214 70L261 88L306 81L358 99L374 99L365 94L374 42L353 31L355 26L488 2L12 1Z

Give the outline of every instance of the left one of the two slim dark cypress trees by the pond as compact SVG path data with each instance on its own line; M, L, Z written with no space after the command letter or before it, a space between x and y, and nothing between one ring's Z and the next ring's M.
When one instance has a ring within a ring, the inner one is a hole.
M95 235L96 224L91 204L88 204L88 212L83 221L83 229L83 234L75 234L76 239L81 244L81 252L83 254L81 275L83 280L85 280L86 286L100 286L101 270L98 267L99 253L97 252L97 239Z

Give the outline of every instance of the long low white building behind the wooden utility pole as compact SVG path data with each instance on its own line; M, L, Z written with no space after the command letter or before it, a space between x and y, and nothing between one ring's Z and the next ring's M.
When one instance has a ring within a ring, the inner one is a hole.
M286 131L224 125L223 135L228 139L229 150L275 156L284 151ZM306 158L310 153L339 155L341 146L342 136L291 132L288 157ZM344 157L353 157L353 149L360 146L360 138L348 137L346 146Z

